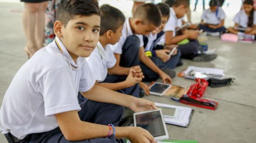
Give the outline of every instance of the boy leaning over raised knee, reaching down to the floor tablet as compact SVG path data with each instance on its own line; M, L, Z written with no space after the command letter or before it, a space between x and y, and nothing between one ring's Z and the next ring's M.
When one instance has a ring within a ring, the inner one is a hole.
M115 53L115 58L117 60L116 65L132 67L139 65L140 60L143 64L147 65L152 71L158 74L157 78L160 76L164 83L170 83L171 78L169 75L174 74L173 71L166 70L168 75L158 68L152 60L145 55L143 42L139 39L140 36L148 35L160 25L161 12L156 5L146 3L137 7L134 16L127 19L124 23L122 36L119 42L115 45L110 45L112 51ZM145 76L146 73L144 71L142 72ZM145 78L148 79L146 76ZM141 84L145 85L143 83L140 83L140 85Z

